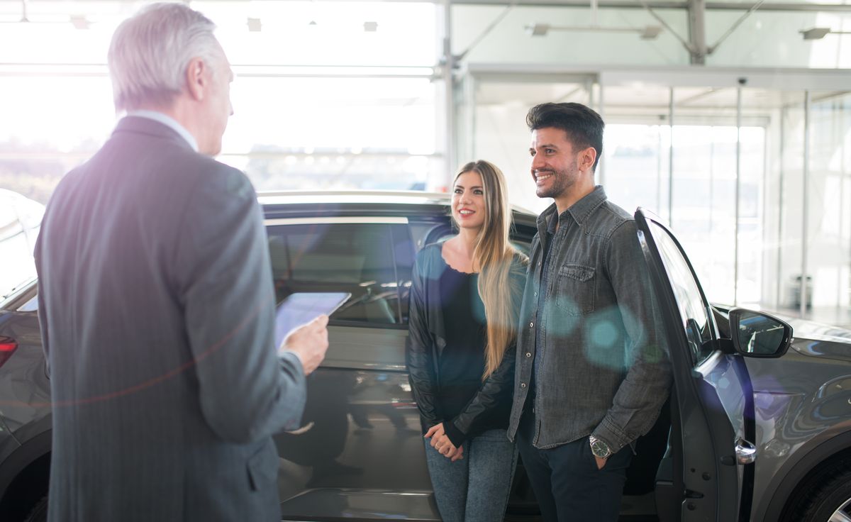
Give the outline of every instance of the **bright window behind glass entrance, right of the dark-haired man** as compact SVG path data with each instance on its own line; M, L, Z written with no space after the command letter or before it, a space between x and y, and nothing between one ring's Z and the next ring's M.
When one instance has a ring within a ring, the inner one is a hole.
M719 93L721 89L713 91L717 98L728 100ZM756 95L751 93L748 99L751 97ZM720 113L725 106L719 101L717 107ZM692 110L680 118L700 121L705 115ZM765 129L741 128L738 289L734 285L734 256L729 254L736 227L736 127L675 125L672 216L668 212L670 128L614 123L607 125L606 133L603 186L608 198L624 209L642 206L665 217L692 255L694 270L712 302L733 303L736 297L740 303L759 302Z

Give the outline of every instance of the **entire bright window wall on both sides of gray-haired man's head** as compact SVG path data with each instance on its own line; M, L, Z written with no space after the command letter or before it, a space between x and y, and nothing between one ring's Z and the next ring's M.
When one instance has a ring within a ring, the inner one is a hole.
M445 186L434 3L191 4L218 26L236 75L219 159L258 190ZM46 203L110 136L106 51L139 7L0 3L0 186Z

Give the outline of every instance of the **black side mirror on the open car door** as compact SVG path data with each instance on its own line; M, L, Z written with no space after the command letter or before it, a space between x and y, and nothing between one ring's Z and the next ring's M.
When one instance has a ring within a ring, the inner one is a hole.
M730 336L737 353L747 357L780 357L789 349L792 327L767 313L730 310Z

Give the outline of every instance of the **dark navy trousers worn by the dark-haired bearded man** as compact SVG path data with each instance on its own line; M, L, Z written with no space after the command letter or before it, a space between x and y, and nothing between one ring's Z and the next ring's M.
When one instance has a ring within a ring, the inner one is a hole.
M632 458L630 446L597 469L587 437L549 450L535 448L533 437L534 414L524 411L517 449L544 522L616 522Z

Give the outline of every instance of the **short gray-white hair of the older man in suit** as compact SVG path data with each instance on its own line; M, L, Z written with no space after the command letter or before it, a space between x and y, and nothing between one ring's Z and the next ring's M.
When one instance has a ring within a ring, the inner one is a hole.
M186 67L201 58L214 72L215 24L184 3L152 3L112 35L107 63L117 111L168 106L186 86Z

